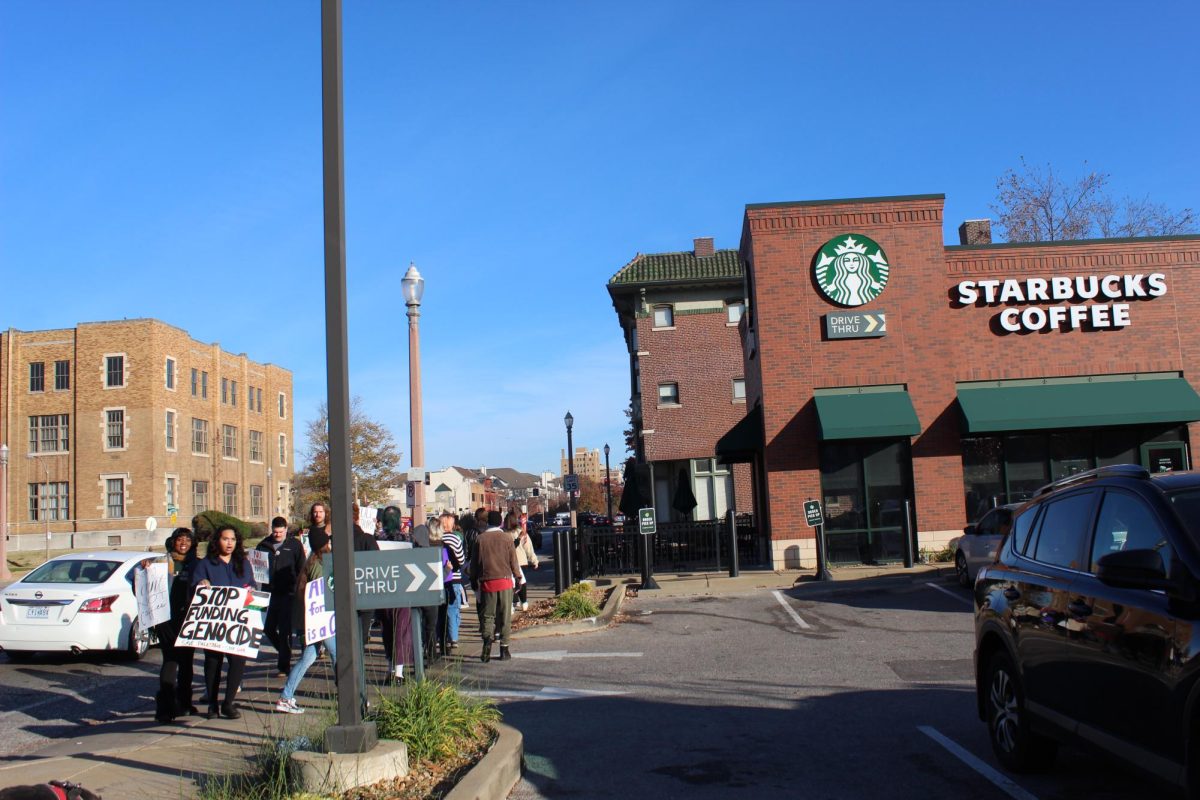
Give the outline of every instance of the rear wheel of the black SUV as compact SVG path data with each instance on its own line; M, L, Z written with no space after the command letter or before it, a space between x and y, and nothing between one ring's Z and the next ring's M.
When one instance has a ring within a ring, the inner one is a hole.
M1043 770L1054 763L1058 744L1030 732L1025 688L1007 652L996 652L988 666L988 738L992 752L1014 772Z

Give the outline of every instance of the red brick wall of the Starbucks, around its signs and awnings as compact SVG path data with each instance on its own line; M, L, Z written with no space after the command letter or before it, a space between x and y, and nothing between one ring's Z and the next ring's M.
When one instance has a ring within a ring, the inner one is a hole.
M888 255L887 288L854 309L886 311L888 335L824 342L822 317L839 307L816 289L812 259L848 233ZM911 198L751 207L742 252L760 360L746 366L748 396L763 399L774 539L810 535L802 504L821 488L814 387L908 386L922 426L912 444L920 530L965 524L955 381L1180 369L1200 387L1200 239L947 249L941 198ZM991 319L1002 307L959 307L954 289L968 278L1150 272L1166 275L1166 295L1133 301L1132 325L1110 331L1001 336Z

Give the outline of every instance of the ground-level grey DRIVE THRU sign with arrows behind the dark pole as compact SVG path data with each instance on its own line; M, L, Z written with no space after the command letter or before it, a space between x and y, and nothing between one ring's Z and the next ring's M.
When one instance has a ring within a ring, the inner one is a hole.
M332 555L326 555L324 563L325 575L332 576ZM332 583L331 577L329 581ZM440 606L445 601L444 585L439 547L354 553L354 595L359 610ZM334 593L326 591L326 608L332 601Z

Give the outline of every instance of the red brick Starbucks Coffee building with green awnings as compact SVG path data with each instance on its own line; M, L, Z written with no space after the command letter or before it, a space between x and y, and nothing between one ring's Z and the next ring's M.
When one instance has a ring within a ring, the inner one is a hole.
M988 509L1103 464L1192 468L1200 236L943 241L943 196L746 206L754 467L776 566L940 549Z

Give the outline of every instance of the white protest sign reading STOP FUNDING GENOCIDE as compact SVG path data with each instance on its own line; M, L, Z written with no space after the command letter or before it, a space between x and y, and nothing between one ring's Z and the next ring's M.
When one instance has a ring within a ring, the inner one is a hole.
M197 587L175 645L254 658L271 596L242 587Z

